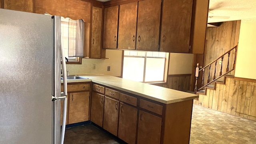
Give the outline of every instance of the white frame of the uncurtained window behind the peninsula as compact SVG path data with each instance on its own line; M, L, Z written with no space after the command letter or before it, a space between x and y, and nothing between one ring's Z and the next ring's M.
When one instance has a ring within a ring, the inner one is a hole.
M164 57L147 56L148 51L140 51L140 52L145 52L145 56L126 56L126 55L124 55L124 51L134 51L134 50L123 50L123 52L122 52L122 70L121 70L122 74L121 74L121 78L123 78L123 72L124 72L124 57L144 58L144 70L143 70L143 81L142 82L146 83L146 84L167 84L167 76L168 76L168 70L169 70L168 66L169 66L169 61L170 61L170 59L169 59L170 53L169 52L166 52L166 56L164 58ZM163 80L145 82L145 78L146 78L146 59L147 58L163 58L163 59L165 59Z

